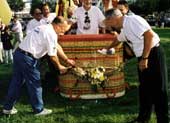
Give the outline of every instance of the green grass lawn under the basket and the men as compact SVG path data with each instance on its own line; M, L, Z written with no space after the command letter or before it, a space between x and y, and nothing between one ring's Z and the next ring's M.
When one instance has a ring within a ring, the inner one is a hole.
M170 71L170 29L155 29L161 37L161 44L167 55L167 66ZM0 65L0 110L11 77L11 66ZM45 107L53 109L53 114L45 117L35 117L29 105L25 87L20 100L16 104L18 114L0 116L0 123L126 123L138 114L138 77L136 60L130 60L125 67L125 81L130 83L130 89L125 96L117 99L103 100L69 100L44 91ZM169 72L170 76L170 72ZM156 123L153 113L151 123Z

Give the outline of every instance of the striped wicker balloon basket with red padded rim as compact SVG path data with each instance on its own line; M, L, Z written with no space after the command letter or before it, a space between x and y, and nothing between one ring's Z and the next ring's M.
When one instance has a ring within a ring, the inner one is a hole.
M76 61L76 66L84 70L102 66L114 68L123 64L123 48L120 44L115 48L115 54L104 55L97 50L112 43L113 36L103 35L64 35L59 37L59 43L67 56ZM124 72L115 71L108 77L105 87L97 87L94 91L90 82L81 80L71 73L59 77L60 94L71 99L102 99L116 98L125 94L126 84Z

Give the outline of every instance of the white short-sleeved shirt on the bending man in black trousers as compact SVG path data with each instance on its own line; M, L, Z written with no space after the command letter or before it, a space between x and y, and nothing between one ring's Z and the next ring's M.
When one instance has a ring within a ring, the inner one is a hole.
M144 33L150 30L150 25L138 15L124 16L123 28L118 36L119 41L128 41L136 57L142 56L144 49ZM153 46L159 43L159 36L153 32Z

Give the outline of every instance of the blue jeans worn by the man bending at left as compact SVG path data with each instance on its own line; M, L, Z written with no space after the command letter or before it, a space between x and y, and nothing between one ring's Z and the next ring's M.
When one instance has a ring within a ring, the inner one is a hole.
M25 83L30 102L35 113L43 110L42 87L38 61L16 50L14 53L13 76L9 85L4 109L10 110L20 96L22 85Z

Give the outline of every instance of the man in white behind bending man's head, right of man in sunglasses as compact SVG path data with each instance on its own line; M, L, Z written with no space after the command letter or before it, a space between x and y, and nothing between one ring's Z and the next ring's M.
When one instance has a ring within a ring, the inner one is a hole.
M50 24L56 17L56 13L50 13L50 7L47 3L42 5L42 20L44 24Z

